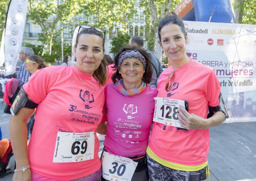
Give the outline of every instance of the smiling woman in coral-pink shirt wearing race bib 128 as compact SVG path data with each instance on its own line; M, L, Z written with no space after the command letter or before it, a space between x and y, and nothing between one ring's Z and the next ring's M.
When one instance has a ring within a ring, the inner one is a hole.
M156 118L147 148L150 180L209 180L208 128L228 118L220 83L214 69L186 55L188 35L175 12L159 23L158 37L172 66L158 79ZM212 113L207 118L208 108Z

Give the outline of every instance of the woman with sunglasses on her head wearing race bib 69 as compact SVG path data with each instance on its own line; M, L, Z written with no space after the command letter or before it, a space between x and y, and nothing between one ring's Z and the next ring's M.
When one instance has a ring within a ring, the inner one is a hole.
M94 133L105 100L104 35L103 29L80 25L76 65L46 67L23 85L22 96L38 105L28 147L26 120L33 109L26 105L10 119L14 181L100 180L99 141Z

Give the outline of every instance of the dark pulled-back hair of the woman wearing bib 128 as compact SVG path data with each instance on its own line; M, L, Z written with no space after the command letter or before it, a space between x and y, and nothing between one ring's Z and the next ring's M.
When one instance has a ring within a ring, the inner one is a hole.
M180 19L174 11L168 12L158 25L158 38L159 38L160 42L161 42L161 34L160 34L161 30L165 25L169 25L169 24L175 24L175 25L180 26L180 29L181 29L182 33L184 34L185 40L186 40L186 42L188 42L188 34L185 30L184 23L183 23L182 19Z

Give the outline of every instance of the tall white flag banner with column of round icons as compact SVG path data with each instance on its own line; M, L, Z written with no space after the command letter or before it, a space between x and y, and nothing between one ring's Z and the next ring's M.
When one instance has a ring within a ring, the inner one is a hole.
M18 62L27 8L28 0L11 0L9 3L4 33L5 76L14 73Z

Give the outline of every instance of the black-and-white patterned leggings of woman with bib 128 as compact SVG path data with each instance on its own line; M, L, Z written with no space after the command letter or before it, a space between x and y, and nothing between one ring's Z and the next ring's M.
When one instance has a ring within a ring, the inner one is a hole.
M154 181L209 181L208 165L198 171L174 170L147 155L149 179Z

